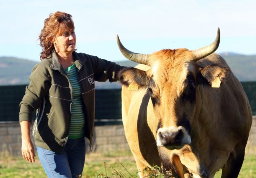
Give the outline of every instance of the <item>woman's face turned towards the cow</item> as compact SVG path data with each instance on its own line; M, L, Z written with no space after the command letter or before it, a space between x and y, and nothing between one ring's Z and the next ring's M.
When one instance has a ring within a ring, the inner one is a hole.
M75 50L75 29L66 28L63 33L56 36L54 47L58 54L72 53Z

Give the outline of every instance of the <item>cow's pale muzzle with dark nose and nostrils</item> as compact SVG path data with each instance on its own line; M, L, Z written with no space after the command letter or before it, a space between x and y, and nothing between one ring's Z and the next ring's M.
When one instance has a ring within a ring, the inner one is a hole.
M171 146L173 149L180 149L185 144L191 143L189 132L182 126L159 128L157 131L156 144L158 147Z

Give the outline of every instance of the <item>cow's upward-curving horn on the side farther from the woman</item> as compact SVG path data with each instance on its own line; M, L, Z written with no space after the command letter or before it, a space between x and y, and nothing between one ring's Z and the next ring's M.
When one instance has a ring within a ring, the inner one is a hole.
M214 51L217 50L217 48L219 47L219 44L220 44L220 28L218 28L216 39L213 41L212 44L192 51L195 56L193 60L199 60L212 54Z

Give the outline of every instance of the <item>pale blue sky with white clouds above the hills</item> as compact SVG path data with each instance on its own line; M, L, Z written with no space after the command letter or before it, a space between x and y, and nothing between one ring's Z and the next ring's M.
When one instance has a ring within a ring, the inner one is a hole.
M118 62L122 44L136 53L195 50L256 54L255 0L1 0L0 57L40 61L38 36L50 13L73 17L77 52Z

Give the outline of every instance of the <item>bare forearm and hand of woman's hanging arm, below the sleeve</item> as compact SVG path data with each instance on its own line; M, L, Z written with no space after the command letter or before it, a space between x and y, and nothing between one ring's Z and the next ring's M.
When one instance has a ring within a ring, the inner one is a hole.
M21 128L21 152L22 157L29 162L35 162L35 149L34 145L30 139L30 126L31 123L29 121L20 122Z

